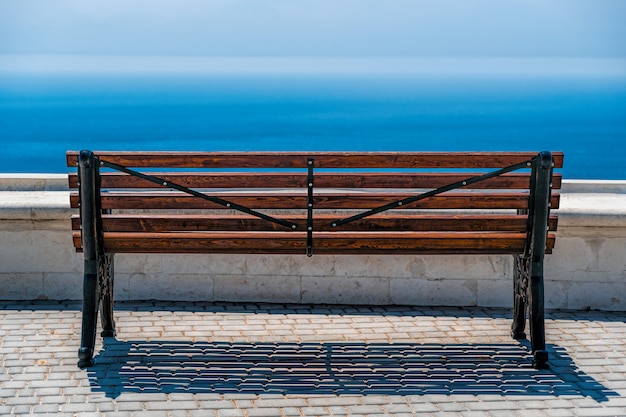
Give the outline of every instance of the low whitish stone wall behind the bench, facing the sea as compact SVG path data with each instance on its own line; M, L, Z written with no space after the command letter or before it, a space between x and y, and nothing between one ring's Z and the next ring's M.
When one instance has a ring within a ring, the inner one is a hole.
M65 175L0 175L0 299L81 299ZM626 181L564 181L548 308L626 311ZM510 256L116 255L118 300L510 307Z

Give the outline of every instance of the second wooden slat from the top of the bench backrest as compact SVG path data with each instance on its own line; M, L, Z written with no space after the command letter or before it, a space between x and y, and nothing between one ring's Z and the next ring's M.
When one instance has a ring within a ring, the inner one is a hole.
M325 173L315 174L316 188L439 188L466 180L481 173ZM151 173L168 183L188 188L306 188L306 173ZM101 175L101 187L111 188L163 188L141 178L127 174L106 172ZM78 175L70 174L70 188L78 187ZM527 189L528 173L506 174L481 181L464 189ZM561 188L561 175L555 174L553 188Z

